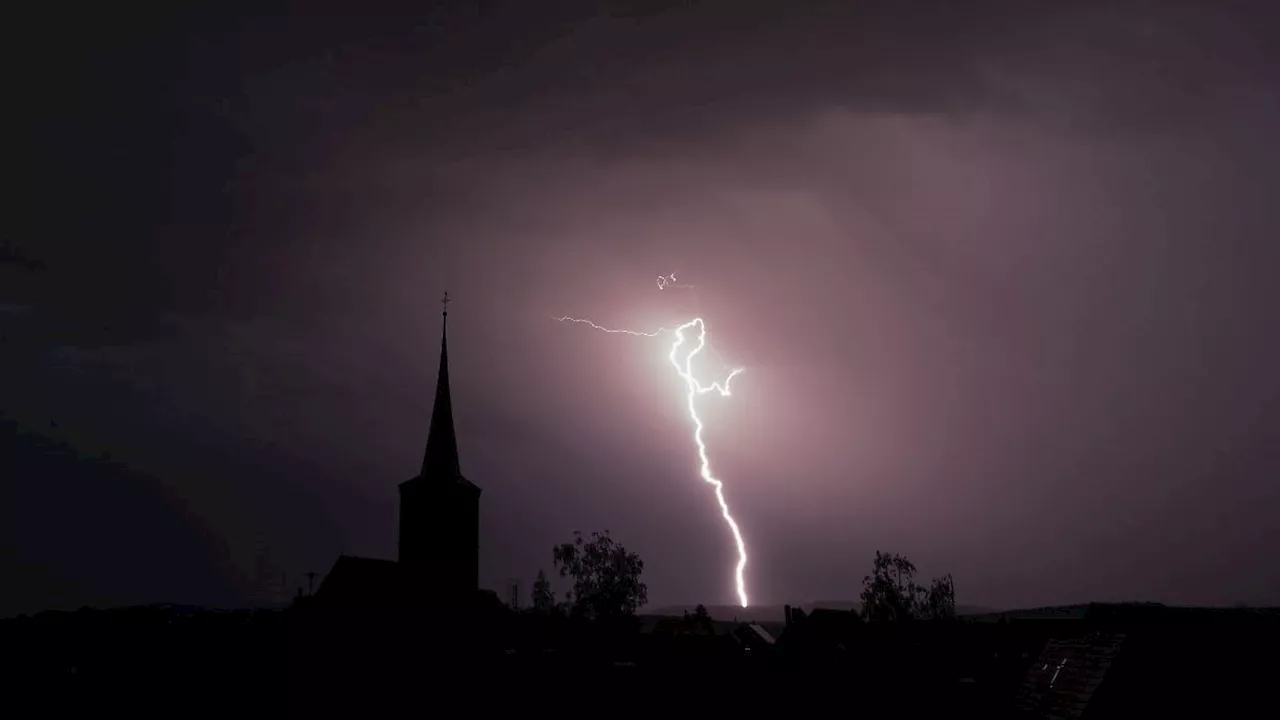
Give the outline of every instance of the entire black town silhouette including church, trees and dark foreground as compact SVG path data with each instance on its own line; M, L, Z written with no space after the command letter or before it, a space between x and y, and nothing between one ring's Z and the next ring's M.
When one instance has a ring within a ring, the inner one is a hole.
M557 597L544 568L529 597L500 597L479 585L481 488L462 468L445 324L422 465L399 484L396 560L342 555L285 605L3 620L0 678L10 696L55 715L556 712L567 701L607 715L692 703L1094 719L1231 716L1268 698L1280 609L965 612L950 575L918 582L896 553L874 555L850 607L786 606L781 621L701 605L648 614L644 560L607 532L575 532L548 552L570 592Z

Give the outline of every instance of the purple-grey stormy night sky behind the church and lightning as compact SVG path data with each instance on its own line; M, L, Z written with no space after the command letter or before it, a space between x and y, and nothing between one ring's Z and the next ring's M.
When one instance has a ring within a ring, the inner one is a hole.
M444 291L484 585L609 529L653 605L733 601L669 343L552 319L700 315L754 603L876 550L963 605L1280 603L1267 5L6 23L0 615L394 557Z

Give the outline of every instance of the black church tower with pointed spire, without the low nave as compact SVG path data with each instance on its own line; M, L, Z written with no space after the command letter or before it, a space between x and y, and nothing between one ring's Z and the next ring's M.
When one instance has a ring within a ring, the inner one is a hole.
M399 564L428 600L467 601L479 587L480 488L462 477L449 397L449 296L422 470L399 486Z

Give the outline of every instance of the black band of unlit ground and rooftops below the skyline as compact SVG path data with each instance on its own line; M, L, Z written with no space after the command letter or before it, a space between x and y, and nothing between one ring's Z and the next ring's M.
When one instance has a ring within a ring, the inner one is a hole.
M0 621L0 687L17 710L41 716L705 708L1229 717L1275 702L1277 619L1094 606L1074 620L878 626L814 612L768 643L698 626L641 633L493 610L81 610Z

